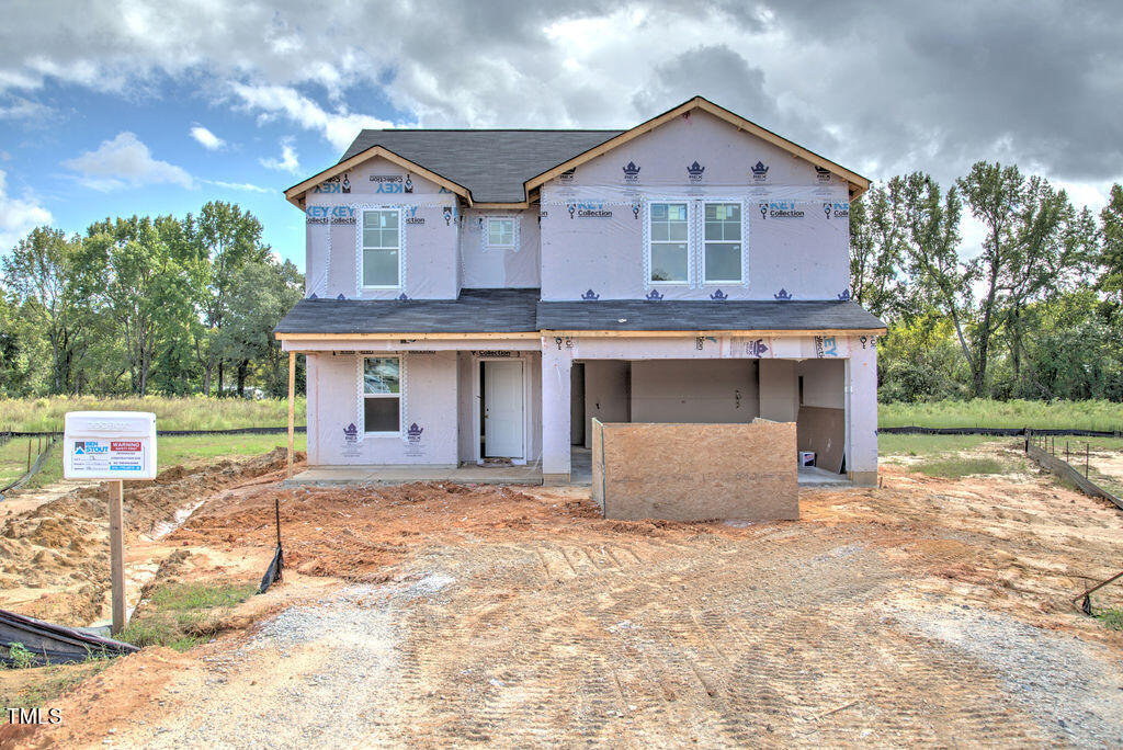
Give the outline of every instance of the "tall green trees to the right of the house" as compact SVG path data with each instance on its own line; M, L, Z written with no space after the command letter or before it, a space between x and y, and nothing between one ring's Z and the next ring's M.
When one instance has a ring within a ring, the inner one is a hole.
M965 211L985 230L964 247ZM1123 400L1123 188L1098 217L1016 166L850 205L851 295L885 320L882 401Z

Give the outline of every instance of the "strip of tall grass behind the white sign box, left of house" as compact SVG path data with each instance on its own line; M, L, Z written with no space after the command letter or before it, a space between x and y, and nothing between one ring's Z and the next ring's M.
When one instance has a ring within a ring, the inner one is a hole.
M157 430L229 430L289 423L289 402L283 399L52 396L0 399L0 432L61 431L69 411L150 411L156 414ZM299 396L299 424L304 423L304 396Z

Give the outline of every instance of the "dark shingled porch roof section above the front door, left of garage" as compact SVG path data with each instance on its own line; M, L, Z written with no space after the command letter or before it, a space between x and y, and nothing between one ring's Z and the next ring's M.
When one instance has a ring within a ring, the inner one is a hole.
M466 289L457 300L301 300L277 333L536 331L537 289Z

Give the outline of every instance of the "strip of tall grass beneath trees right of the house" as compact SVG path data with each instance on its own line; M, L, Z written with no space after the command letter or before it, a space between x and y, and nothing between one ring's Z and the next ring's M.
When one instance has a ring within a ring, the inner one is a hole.
M878 406L880 427L1004 427L1123 431L1123 403L1111 401L934 401Z

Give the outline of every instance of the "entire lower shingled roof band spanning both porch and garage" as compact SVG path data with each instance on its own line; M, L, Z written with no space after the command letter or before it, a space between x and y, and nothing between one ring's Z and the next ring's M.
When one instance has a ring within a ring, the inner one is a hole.
M537 289L466 289L457 300L301 300L279 333L869 330L885 323L856 302L540 302ZM624 322L620 322L623 319Z

